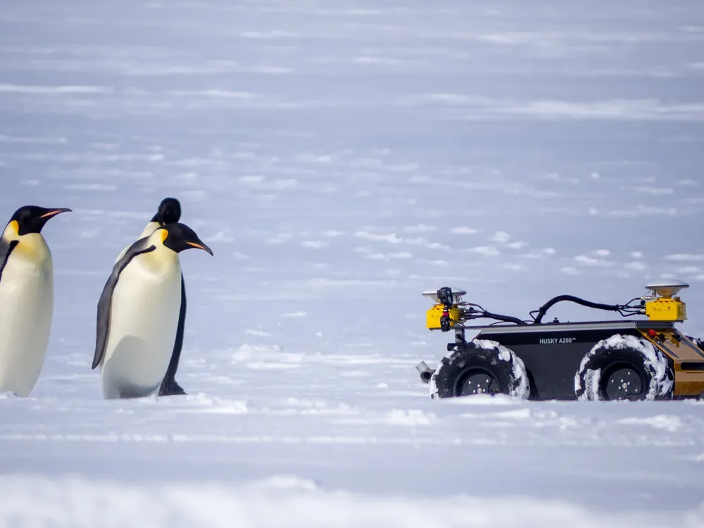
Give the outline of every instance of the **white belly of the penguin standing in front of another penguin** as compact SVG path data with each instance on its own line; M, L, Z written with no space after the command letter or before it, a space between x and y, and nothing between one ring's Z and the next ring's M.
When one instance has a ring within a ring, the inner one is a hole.
M153 394L166 373L181 306L181 270L163 274L131 263L115 285L101 364L106 398Z

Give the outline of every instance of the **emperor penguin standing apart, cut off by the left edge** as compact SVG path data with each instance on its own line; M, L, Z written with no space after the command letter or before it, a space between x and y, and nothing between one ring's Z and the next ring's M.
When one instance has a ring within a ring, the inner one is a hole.
M26 398L39 379L54 314L54 263L42 228L69 211L20 207L0 237L0 392Z

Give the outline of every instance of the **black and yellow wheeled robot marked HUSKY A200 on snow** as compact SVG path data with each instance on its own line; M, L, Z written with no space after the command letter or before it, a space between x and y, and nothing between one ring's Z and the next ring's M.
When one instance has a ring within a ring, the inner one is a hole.
M463 301L466 291L427 291L430 330L453 332L436 368L416 365L432 398L508 394L531 400L670 400L704 395L704 344L677 328L686 304L677 296L689 284L653 282L626 304L602 304L571 295L552 298L532 320L490 313ZM621 320L543 322L562 301L622 315ZM645 315L645 318L629 317ZM468 326L476 319L489 325ZM477 331L467 341L465 332Z

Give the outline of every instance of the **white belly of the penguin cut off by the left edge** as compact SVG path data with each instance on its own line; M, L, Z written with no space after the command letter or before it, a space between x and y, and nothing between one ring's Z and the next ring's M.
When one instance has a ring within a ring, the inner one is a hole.
M0 391L26 397L34 389L53 311L51 257L32 262L12 253L0 280Z

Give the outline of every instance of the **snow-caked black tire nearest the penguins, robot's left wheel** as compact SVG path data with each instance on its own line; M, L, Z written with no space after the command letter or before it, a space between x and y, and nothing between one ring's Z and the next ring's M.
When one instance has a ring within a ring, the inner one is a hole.
M508 394L527 399L530 384L522 360L496 341L474 340L444 357L430 379L432 398Z

